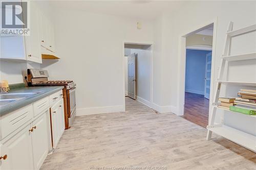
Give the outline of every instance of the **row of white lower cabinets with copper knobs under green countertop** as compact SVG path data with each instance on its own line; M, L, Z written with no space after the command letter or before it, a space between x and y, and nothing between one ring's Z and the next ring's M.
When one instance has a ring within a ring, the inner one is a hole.
M60 94L62 90L56 92ZM54 101L51 109L49 99L47 96L0 117L1 170L38 170L52 151L51 140L56 147L65 130L63 99Z

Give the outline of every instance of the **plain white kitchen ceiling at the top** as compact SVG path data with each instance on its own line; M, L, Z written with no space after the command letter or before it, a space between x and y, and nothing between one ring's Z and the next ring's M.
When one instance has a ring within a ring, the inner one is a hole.
M184 1L49 1L49 3L52 8L154 19L164 11L178 10Z

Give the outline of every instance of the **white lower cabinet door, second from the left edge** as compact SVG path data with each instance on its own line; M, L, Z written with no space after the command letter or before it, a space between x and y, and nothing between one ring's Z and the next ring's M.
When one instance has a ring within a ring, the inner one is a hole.
M46 113L33 122L32 149L34 169L39 169L48 153L48 134Z

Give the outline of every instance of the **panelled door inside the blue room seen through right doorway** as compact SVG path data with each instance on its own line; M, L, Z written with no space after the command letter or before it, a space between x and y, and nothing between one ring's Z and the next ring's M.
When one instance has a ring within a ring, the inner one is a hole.
M211 52L206 54L204 98L210 98Z

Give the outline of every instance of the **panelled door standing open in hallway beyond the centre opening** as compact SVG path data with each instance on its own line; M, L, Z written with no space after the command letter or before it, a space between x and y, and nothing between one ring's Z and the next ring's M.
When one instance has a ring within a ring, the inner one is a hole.
M136 99L136 54L130 54L128 56L128 96L132 99Z

